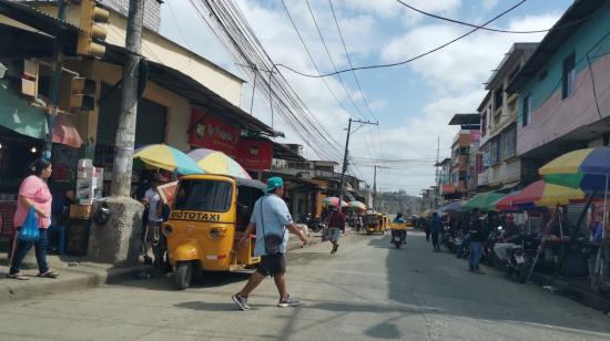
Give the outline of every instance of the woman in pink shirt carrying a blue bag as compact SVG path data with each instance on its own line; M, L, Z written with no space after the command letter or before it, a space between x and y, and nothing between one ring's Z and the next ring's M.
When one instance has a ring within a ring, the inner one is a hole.
M19 200L17 203L13 224L20 228L33 207L37 213L40 238L38 241L18 241L8 277L20 280L30 279L20 272L20 268L23 258L26 258L28 251L34 246L39 269L38 276L57 278L58 273L51 271L47 265L47 229L51 225L51 202L53 199L49 186L47 186L47 179L49 179L53 169L50 162L39 158L32 163L31 170L32 175L28 176L19 187Z

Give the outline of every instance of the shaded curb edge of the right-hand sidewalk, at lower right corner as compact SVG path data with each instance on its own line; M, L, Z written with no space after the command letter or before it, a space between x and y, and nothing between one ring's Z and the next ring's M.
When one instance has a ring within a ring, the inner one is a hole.
M610 299L603 298L593 292L580 289L568 281L553 278L549 275L533 272L530 280L540 286L551 286L557 289L557 292L566 298L572 299L583 306L593 308L596 310L610 312Z

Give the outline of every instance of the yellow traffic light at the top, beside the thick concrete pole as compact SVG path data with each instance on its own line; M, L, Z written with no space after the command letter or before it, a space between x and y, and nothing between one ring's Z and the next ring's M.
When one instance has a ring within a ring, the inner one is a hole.
M81 1L81 30L79 32L79 43L77 53L82 55L102 56L105 53L105 46L95 42L104 41L106 28L103 23L108 23L110 12L99 8L94 0Z

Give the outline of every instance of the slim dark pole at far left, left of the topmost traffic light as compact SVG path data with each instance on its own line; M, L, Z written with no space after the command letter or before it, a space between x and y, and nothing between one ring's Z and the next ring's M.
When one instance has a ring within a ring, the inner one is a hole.
M58 19L61 21L65 21L65 17L68 16L68 3L65 3L65 0L59 0L58 1ZM62 43L63 43L63 33L59 33L58 37L55 37L55 41L53 44L53 73L51 74L51 84L49 86L49 114L47 115L47 125L49 127L49 132L47 133L47 136L44 138L44 152L43 157L47 159L51 159L52 151L53 151L53 130L55 127L55 118L58 116L58 96L59 96L59 87L61 86L61 70L63 69L63 56L61 54L62 51Z

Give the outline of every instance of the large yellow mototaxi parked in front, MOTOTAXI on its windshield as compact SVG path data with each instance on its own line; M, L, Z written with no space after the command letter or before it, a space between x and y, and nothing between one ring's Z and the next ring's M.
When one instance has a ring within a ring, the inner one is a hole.
M260 261L255 236L240 247L254 203L264 195L257 180L224 175L180 179L170 218L162 226L175 285L189 288L201 271L244 271Z

